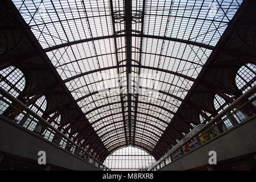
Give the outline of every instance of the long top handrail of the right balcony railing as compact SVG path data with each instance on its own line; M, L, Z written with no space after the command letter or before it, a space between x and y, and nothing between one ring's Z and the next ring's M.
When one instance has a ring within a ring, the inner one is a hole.
M172 151L170 154L168 154L165 158L160 158L155 164L153 164L148 171L153 169L154 167L158 166L158 164L162 163L164 160L166 160L168 157L170 157L172 154L174 154L177 150L185 146L187 143L191 142L191 139L196 138L197 135L208 129L210 125L212 125L214 122L216 122L217 119L221 118L222 116L226 115L229 111L232 111L237 105L243 105L245 100L247 100L250 96L256 93L256 85L254 85L252 88L247 90L245 93L242 94L242 96L238 97L237 100L233 101L232 104L230 104L228 107L226 107L224 110L221 111L221 113L217 114L214 118L212 118L207 124L205 124L197 133L193 134L187 141L185 141L179 148ZM170 151L170 150L169 150ZM168 152L168 151L167 151Z

